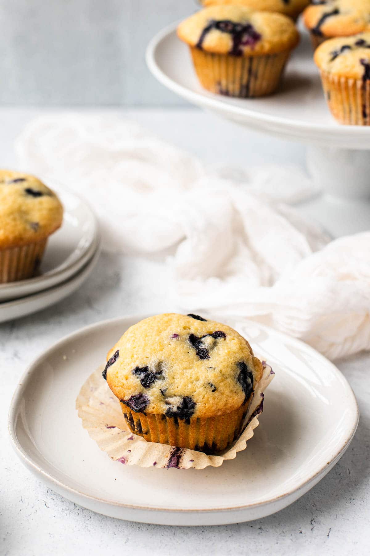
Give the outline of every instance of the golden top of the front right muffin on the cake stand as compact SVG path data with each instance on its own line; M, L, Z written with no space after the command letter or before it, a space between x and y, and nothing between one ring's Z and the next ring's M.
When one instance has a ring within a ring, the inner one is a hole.
M332 75L370 79L370 33L328 39L316 49L316 65Z

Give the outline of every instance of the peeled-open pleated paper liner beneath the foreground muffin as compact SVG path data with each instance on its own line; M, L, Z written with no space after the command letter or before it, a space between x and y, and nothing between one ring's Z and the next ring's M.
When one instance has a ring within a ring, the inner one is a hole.
M204 469L208 465L219 467L225 459L234 459L237 452L246 448L259 425L257 416L263 410L263 391L275 373L263 365L263 374L256 385L254 395L242 424L242 433L224 451L207 455L202 451L178 448L170 444L148 442L143 436L133 434L124 418L119 400L113 395L102 377L104 365L100 366L83 384L76 400L82 426L95 440L99 448L115 461L125 465L178 469ZM180 420L179 420L180 422Z

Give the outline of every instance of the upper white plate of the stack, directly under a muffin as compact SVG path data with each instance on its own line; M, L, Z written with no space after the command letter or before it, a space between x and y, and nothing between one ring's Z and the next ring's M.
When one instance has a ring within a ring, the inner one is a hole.
M45 180L45 183L50 181ZM68 280L97 250L98 223L89 205L74 193L50 185L63 203L63 224L48 240L39 276L0 284L0 302L36 294Z

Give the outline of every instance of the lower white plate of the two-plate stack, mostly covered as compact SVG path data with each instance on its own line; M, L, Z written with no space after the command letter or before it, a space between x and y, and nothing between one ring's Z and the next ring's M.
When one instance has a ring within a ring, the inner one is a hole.
M93 271L99 254L100 245L98 243L92 258L69 280L57 286L50 287L48 290L42 291L39 294L28 295L27 297L22 297L22 299L0 303L0 322L31 315L73 294Z

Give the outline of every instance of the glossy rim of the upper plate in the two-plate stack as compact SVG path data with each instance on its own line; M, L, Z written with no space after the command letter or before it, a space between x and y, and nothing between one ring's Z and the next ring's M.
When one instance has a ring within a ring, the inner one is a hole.
M44 181L46 181L46 180L44 180ZM92 207L90 206L90 203L88 201L86 201L84 197L78 195L78 193L75 193L74 191L70 190L68 187L65 187L65 186L62 187L62 186L58 186L58 185L55 187L55 184L52 183L51 180L49 180L49 185L52 185L53 191L55 190L57 192L57 194L61 197L64 195L64 193L66 193L67 195L70 195L72 197L77 198L79 200L79 202L82 205L84 205L85 209L88 210L89 215L90 215L90 217L92 219L92 222L93 222L93 226L94 226L94 232L93 232L92 240L90 241L90 243L89 243L88 247L85 249L85 251L78 257L78 259L73 261L73 262L70 262L67 266L63 266L64 262L62 262L62 264L59 264L54 269L48 270L47 272L45 272L45 274L42 274L40 276L33 276L31 278L27 278L27 279L24 279L24 280L17 280L17 281L14 281L14 282L8 282L6 284L0 284L0 294L7 289L17 290L17 289L20 289L21 287L24 287L24 286L27 286L27 285L33 286L33 285L40 284L40 282L43 282L45 280L58 279L58 277L60 277L60 275L63 275L64 273L69 272L75 266L76 266L75 272L77 272L83 266L83 264L78 266L80 261L82 259L84 259L84 257L87 257L87 260L85 262L88 262L88 260L92 257L92 255L96 251L96 249L94 251L92 251L92 250L93 250L93 246L97 247L98 244L99 244L99 237L100 237L99 221L98 221L97 215L95 215L95 212L93 211ZM63 209L64 209L64 207L63 207ZM64 217L65 212L67 212L67 211L63 210L63 217ZM62 229L62 227L63 227L63 222L62 222L62 226L60 226L60 230ZM56 231L58 231L58 230L56 230ZM72 251L72 253L73 253L73 251ZM90 256L88 256L88 255L90 255ZM69 277L73 275L73 272L74 272L74 270L72 270L70 272ZM60 282L57 281L57 282L55 282L54 286L58 285L58 284L60 284ZM53 287L53 286L49 286L49 287ZM42 291L42 290L34 291L33 294L39 293L40 291ZM26 295L33 295L33 294L26 294ZM14 291L14 295L17 295L17 291ZM24 297L24 296L22 296L22 297ZM21 298L18 298L18 299L21 299ZM12 300L12 301L14 301L14 300ZM0 302L0 303L2 303L2 302Z

